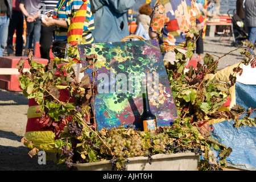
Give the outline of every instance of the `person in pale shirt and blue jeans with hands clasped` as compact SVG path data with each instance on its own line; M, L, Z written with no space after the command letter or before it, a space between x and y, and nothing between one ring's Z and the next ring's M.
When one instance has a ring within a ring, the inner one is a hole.
M25 51L27 51L27 49L35 50L35 44L40 40L40 2L40 0L20 0L19 3L19 8L25 16L27 24ZM35 51L33 51L33 53L35 53ZM27 53L24 55L27 55Z

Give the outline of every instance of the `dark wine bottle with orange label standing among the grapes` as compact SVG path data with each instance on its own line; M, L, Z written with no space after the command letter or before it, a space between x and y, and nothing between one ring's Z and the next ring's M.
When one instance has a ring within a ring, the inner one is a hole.
M142 86L142 100L143 100L143 113L141 115L141 130L151 131L152 133L158 132L156 125L156 117L151 113L150 104L148 101L147 86Z

